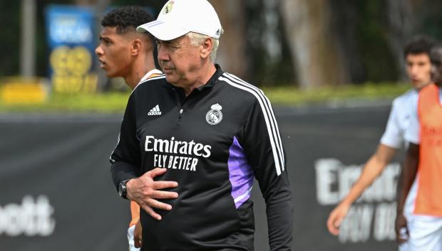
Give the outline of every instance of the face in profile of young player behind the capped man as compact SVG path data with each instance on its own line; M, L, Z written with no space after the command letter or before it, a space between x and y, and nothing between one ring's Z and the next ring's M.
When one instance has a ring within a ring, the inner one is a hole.
M116 27L104 27L100 33L100 44L95 49L101 69L108 78L125 77L130 73L132 57L131 40L118 34Z

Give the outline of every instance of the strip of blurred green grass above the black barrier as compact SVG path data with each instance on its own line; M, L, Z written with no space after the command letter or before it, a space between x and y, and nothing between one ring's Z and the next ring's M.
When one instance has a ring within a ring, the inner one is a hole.
M346 100L391 100L410 88L407 84L366 83L324 87L319 90L299 90L296 87L264 87L263 91L273 105L299 106ZM0 100L0 112L124 112L130 92L98 94L53 93L48 102L38 105L6 105Z

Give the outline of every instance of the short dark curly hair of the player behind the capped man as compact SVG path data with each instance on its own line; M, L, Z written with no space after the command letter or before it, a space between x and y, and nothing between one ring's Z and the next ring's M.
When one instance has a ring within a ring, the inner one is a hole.
M153 21L146 9L140 6L122 6L106 14L101 20L103 27L116 27L117 33L135 32L143 23Z

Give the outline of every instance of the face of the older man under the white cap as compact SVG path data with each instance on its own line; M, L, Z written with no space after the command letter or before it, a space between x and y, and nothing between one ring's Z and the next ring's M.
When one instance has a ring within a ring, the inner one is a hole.
M192 46L187 36L180 36L171 41L157 40L157 46L158 62L163 68L166 80L178 87L193 85L202 66L202 46Z

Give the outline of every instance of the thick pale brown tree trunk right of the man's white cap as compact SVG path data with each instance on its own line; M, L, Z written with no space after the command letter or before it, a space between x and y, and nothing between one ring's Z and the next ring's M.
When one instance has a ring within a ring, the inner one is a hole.
M329 1L283 0L281 12L302 88L340 85L349 77L332 32Z

